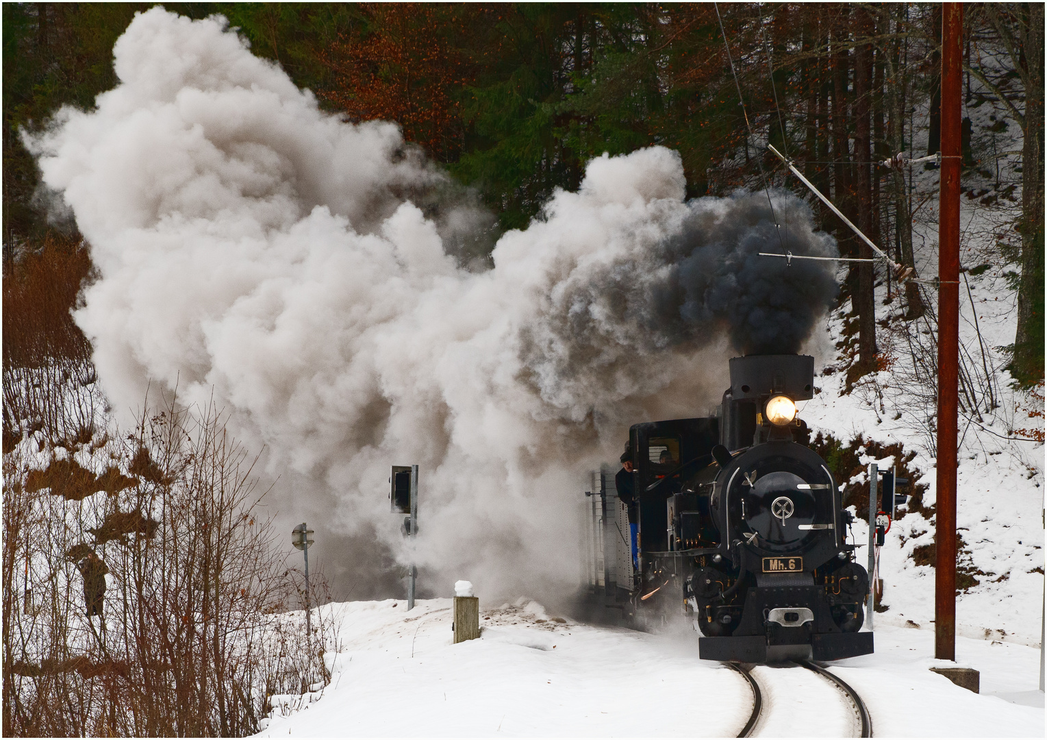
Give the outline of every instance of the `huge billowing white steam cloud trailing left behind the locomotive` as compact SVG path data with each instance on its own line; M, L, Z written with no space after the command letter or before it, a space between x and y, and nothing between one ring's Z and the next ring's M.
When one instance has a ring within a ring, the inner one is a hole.
M574 586L585 471L617 458L628 425L704 414L726 386L733 319L695 306L722 264L767 245L756 199L686 203L667 149L604 156L469 271L446 243L474 209L424 217L411 193L447 180L399 129L320 112L224 19L156 7L114 56L96 109L29 142L91 244L101 277L75 318L114 408L150 383L214 393L266 445L283 521L319 518L318 553L350 581L407 561L386 481L418 463L416 558L435 590ZM775 198L802 248L833 253L802 203ZM749 231L694 234L720 223ZM690 314L703 323L681 329ZM347 538L341 557L325 531Z

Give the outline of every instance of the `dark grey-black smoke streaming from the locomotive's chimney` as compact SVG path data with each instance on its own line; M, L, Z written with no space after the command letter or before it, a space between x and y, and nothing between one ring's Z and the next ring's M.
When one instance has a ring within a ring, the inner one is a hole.
M838 254L810 209L782 191L678 203L659 233L636 228L625 240L629 248L575 270L584 279L563 280L541 321L522 332L529 379L575 418L578 409L599 413L608 388L662 392L681 368L695 367L697 352L714 352L700 364L716 387L730 356L725 339L731 353L797 352L839 288L834 262L760 256L783 245L794 255Z

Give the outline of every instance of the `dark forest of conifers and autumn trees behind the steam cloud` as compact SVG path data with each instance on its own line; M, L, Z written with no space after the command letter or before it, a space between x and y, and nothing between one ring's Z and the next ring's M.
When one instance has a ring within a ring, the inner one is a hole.
M44 126L62 105L90 107L112 87L112 44L147 7L4 6L5 269L53 231L19 130ZM908 224L919 196L899 170L870 162L939 148L938 5L728 3L720 18L708 3L168 7L224 15L326 109L399 123L475 189L499 228L526 225L554 189L577 188L589 158L655 144L681 153L691 197L764 182L801 192L759 139L800 162L896 261L913 263ZM998 243L1019 292L1012 371L1023 385L1043 376L1044 356L1042 13L1035 3L973 5L964 21L964 165L981 175L968 197L1013 200L1019 183L996 178L1001 158L1020 158L1021 202ZM990 101L1005 115L974 130L970 109ZM1019 131L1021 151L1001 151L998 140ZM819 216L843 254L864 254L834 216ZM865 269L848 289L868 369L875 330ZM927 299L913 284L906 290L909 314L919 315Z

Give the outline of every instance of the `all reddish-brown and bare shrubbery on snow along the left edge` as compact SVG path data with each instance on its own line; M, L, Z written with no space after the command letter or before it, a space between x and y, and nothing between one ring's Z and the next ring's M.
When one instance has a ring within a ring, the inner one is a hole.
M216 410L107 429L70 315L90 269L53 235L4 265L4 735L252 734L327 679L333 626L286 613L295 573Z

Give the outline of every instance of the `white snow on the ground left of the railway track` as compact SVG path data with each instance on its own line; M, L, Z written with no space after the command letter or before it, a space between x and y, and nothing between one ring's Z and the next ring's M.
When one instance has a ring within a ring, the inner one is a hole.
M483 602L482 602L483 604ZM451 644L451 601L334 605L342 645L322 698L263 733L292 736L737 734L743 679L697 644L554 622L537 605L482 609ZM696 691L697 687L700 691ZM646 708L659 708L651 711Z

